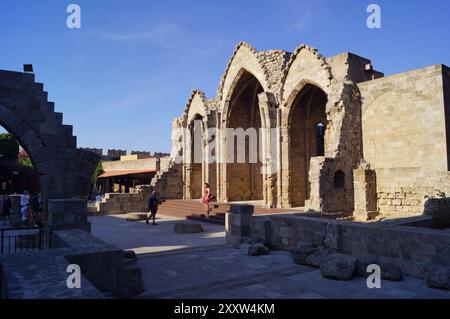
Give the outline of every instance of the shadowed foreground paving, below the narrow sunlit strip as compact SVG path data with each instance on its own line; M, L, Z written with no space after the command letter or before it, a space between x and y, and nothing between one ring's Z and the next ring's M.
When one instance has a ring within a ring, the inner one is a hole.
M221 258L223 257L223 258ZM199 247L139 256L147 292L139 298L201 299L449 299L450 291L428 288L423 280L336 281L316 268L295 265L289 254L271 251L251 257L227 246Z

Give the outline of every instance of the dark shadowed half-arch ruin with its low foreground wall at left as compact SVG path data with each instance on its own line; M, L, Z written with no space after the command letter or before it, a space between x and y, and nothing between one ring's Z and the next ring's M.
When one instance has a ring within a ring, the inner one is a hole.
M63 124L62 113L47 98L34 74L0 70L0 125L15 135L40 176L47 248L0 256L0 298L104 298L105 293L127 298L141 293L145 287L136 256L90 235L87 199L100 158L77 148L72 126ZM66 286L71 263L81 267L82 289Z

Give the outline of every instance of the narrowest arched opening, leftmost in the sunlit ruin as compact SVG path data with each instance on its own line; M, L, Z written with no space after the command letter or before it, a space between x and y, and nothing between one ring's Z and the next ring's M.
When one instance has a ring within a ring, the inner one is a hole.
M203 117L197 114L189 124L191 134L191 172L190 172L190 198L197 199L202 197L203 191L203 171L204 171L204 146Z

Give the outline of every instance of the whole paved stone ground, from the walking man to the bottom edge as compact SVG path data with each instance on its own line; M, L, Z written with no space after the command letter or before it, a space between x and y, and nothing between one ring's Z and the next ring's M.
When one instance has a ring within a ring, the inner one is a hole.
M367 288L365 278L324 279L318 269L293 264L286 252L251 257L223 245L223 226L204 225L205 233L176 235L177 219L160 217L155 227L120 215L91 218L95 236L139 254L146 286L139 298L450 298L450 291L428 288L411 277L382 281L381 289Z

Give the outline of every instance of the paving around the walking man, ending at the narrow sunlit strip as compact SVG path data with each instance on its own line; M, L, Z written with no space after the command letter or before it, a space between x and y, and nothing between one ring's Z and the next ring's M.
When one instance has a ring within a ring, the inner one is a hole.
M159 215L157 226L145 222L129 222L126 215L89 217L92 234L121 249L132 249L136 254L160 252L189 247L223 244L224 227L203 224L203 233L179 235L173 227L184 219Z

